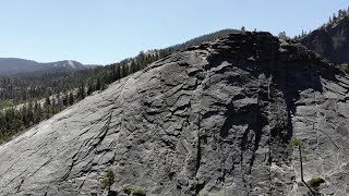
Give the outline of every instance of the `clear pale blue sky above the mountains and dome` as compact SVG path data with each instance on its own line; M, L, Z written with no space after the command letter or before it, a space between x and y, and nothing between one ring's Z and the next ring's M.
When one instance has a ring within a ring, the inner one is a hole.
M0 57L112 63L222 28L313 29L349 0L1 0Z

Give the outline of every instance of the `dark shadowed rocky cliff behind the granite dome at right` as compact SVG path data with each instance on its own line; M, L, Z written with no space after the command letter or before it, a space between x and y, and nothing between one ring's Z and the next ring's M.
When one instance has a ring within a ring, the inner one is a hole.
M349 16L312 32L301 44L336 64L349 63Z

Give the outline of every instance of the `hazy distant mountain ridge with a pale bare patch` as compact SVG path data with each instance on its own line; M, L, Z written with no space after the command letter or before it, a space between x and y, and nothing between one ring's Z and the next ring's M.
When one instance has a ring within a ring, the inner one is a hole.
M39 63L25 59L0 58L0 75L31 72L74 72L91 68L93 66L86 66L72 60Z

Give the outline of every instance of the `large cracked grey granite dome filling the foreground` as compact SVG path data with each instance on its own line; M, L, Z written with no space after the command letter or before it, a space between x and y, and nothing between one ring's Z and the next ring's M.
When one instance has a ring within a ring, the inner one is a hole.
M348 195L349 78L268 33L178 51L0 146L0 195ZM294 151L296 152L296 151Z

